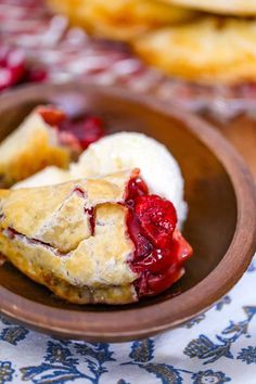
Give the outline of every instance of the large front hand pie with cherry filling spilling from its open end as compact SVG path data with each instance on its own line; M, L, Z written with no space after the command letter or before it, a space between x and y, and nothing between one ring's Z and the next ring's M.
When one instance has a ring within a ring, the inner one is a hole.
M102 179L0 191L0 253L77 304L126 304L183 274L190 245L174 205L139 169Z

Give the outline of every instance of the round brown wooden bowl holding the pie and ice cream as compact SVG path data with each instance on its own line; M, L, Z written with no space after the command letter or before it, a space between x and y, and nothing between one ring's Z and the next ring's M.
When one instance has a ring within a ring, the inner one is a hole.
M111 132L141 131L163 142L180 164L194 248L185 276L157 297L126 306L77 306L54 297L11 264L0 268L0 310L62 337L124 342L176 327L206 310L242 277L256 248L252 177L230 144L197 117L141 95L91 85L42 85L0 98L1 137L37 104L90 111Z

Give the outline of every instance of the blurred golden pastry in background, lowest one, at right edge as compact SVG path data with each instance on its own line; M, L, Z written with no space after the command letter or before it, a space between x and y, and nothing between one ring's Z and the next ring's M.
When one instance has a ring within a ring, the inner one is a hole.
M203 17L135 42L136 52L166 74L203 84L256 80L256 21Z

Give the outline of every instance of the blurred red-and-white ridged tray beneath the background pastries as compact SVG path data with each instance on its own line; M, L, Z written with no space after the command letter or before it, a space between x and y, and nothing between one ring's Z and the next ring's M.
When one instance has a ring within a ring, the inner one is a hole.
M72 78L118 86L153 94L164 102L204 115L238 148L256 176L256 85L200 86L174 80L148 67L120 42L91 39L53 15L44 0L2 0L0 54L3 47L22 50L30 63L42 65L50 81Z

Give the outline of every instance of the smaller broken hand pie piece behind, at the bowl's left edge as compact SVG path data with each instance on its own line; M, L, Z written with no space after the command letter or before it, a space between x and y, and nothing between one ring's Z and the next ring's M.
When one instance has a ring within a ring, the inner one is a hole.
M23 180L48 165L67 168L73 152L80 152L75 138L60 135L63 111L39 106L0 143L0 179L4 187Z

